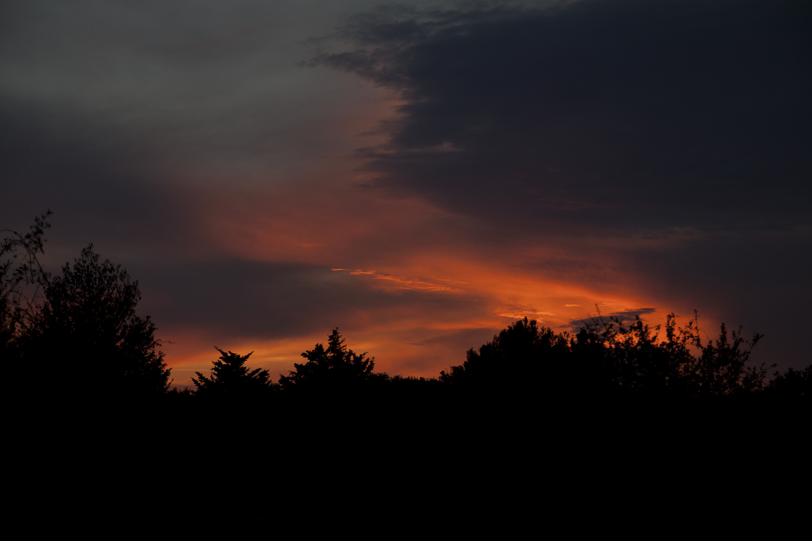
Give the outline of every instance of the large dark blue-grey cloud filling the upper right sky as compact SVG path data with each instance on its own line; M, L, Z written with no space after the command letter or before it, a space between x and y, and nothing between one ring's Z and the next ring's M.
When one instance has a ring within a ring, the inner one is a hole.
M809 223L810 6L357 15L315 62L403 92L379 186L564 234Z

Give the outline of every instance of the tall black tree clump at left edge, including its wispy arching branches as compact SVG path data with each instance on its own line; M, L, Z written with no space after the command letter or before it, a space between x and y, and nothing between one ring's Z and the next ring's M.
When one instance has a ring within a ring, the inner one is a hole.
M136 315L138 282L93 245L52 277L37 254L50 211L0 243L0 341L12 372L53 397L162 396L170 387L155 324Z

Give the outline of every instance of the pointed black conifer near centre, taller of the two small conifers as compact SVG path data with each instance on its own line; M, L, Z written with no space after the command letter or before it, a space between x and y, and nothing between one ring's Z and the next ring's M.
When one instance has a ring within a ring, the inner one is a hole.
M279 384L283 389L292 388L336 388L365 382L372 377L374 357L366 353L356 354L348 350L338 328L334 328L327 339L327 349L316 344L313 350L302 354L307 363L294 363L296 370L289 376L280 374Z

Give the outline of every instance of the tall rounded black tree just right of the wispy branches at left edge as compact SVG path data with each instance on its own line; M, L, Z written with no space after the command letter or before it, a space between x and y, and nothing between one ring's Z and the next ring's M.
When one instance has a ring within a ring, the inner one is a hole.
M138 282L89 245L46 284L44 302L28 316L24 361L59 393L165 393L170 369L155 324L136 316L140 298Z

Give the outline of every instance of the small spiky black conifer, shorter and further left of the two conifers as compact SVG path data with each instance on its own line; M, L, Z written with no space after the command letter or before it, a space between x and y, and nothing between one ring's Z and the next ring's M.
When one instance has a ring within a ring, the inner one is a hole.
M267 370L261 368L250 370L245 366L245 361L253 351L247 355L238 355L220 348L215 349L220 352L220 358L212 361L214 367L211 369L211 376L206 377L200 372L195 372L199 379L192 378L197 385L198 396L256 397L273 389L274 384L270 381Z

